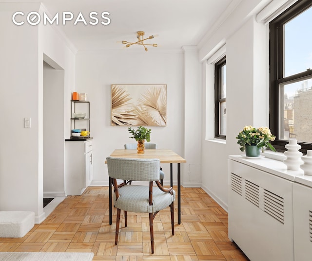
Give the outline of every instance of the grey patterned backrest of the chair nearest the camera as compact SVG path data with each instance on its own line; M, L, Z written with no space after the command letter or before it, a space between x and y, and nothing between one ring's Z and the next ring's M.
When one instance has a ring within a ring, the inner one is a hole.
M107 157L108 175L111 178L133 181L159 180L160 161L157 158L137 159Z

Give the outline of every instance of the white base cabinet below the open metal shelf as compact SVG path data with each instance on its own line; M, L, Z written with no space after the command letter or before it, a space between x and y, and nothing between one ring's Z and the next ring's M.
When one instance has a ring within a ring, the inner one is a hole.
M93 140L65 140L66 195L81 195L93 179Z

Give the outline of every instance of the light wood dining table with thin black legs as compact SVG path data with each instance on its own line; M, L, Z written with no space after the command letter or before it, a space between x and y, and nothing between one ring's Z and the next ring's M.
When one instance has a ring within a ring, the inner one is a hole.
M170 186L173 186L173 163L177 163L177 215L178 224L181 224L181 165L186 160L168 149L146 149L144 154L137 154L137 150L114 150L110 157L121 158L158 158L160 163L170 163ZM105 160L105 163L106 160ZM109 178L109 224L112 225L112 180Z

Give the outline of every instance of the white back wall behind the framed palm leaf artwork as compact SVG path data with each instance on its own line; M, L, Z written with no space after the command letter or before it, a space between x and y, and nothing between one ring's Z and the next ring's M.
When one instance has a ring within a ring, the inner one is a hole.
M104 164L115 149L123 149L130 139L128 127L111 126L111 84L166 84L167 126L151 126L151 142L172 149L183 157L183 75L182 52L159 50L79 51L76 57L76 88L90 101L90 135L93 141L92 185L108 185ZM181 173L184 164L181 164ZM176 164L173 164L176 180ZM169 183L170 166L162 164Z

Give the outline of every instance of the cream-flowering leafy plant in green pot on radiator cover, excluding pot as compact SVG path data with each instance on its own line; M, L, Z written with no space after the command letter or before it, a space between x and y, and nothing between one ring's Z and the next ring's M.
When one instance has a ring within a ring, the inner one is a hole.
M275 148L272 146L270 141L275 139L275 136L272 135L271 130L268 127L254 128L253 126L245 126L242 131L240 131L236 137L238 139L237 144L241 147L241 151L245 150L245 146L256 145L258 148L261 148L264 152L264 148L270 148L276 152Z

